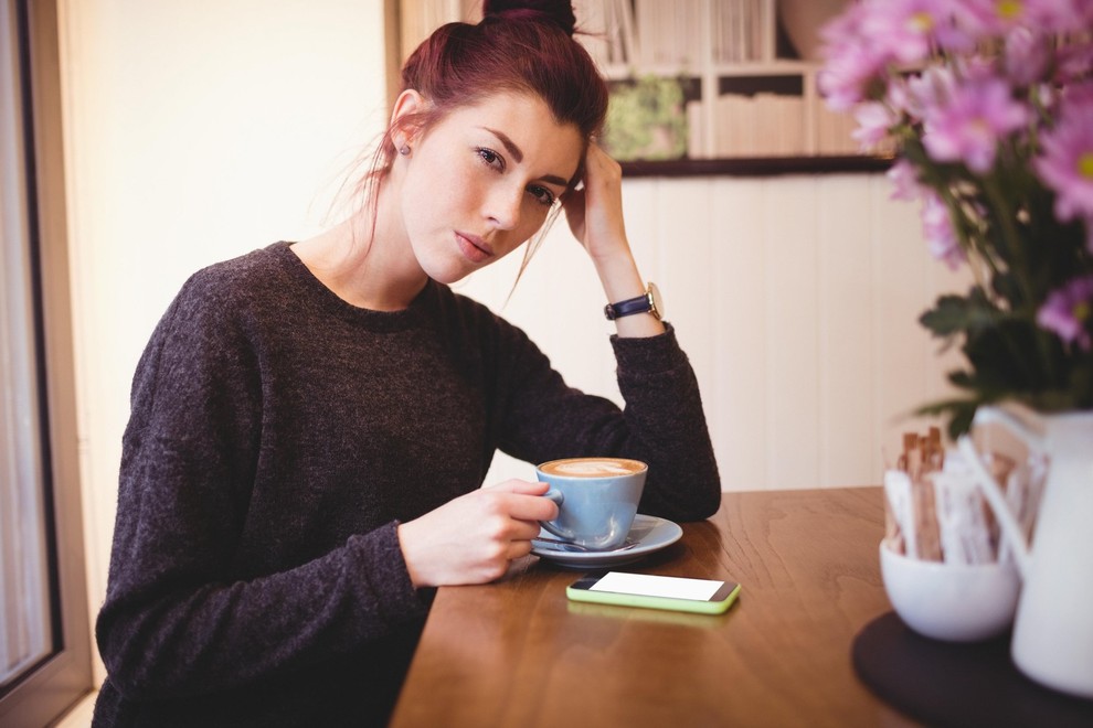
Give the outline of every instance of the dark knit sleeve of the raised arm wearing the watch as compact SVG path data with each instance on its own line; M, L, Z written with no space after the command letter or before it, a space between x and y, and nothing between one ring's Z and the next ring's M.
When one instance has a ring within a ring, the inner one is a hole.
M588 454L649 464L640 512L677 521L712 515L721 503L718 464L698 381L676 330L612 336L625 407L569 387L534 344L514 334L513 376L500 447L530 462Z

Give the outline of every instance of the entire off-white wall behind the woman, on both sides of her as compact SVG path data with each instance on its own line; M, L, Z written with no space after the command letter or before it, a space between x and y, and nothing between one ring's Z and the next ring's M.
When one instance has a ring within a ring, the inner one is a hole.
M62 0L91 611L128 389L197 268L322 224L382 111L382 0ZM633 180L627 224L703 389L726 490L878 482L941 382L915 323L952 283L877 175ZM463 289L501 308L516 258ZM603 295L560 221L503 313L618 398ZM530 475L501 459L498 478ZM102 671L98 673L102 676Z

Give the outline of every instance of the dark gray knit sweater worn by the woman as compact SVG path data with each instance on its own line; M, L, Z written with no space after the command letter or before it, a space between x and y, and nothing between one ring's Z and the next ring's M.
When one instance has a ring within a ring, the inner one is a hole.
M641 513L711 515L675 332L612 344L623 411L437 283L359 309L286 244L193 276L134 378L95 725L385 721L432 593L395 525L479 488L498 448L639 458Z

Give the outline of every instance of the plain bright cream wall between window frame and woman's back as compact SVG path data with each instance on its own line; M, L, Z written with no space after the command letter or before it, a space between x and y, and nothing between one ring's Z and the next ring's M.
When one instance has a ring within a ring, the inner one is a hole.
M59 6L94 615L137 357L195 269L319 227L385 120L383 2Z

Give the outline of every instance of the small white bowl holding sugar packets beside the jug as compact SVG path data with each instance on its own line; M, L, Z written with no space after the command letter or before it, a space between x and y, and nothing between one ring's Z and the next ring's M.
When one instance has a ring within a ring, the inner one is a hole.
M912 630L947 642L1001 634L1014 622L1021 580L1012 564L943 564L880 545L881 577L895 613Z

